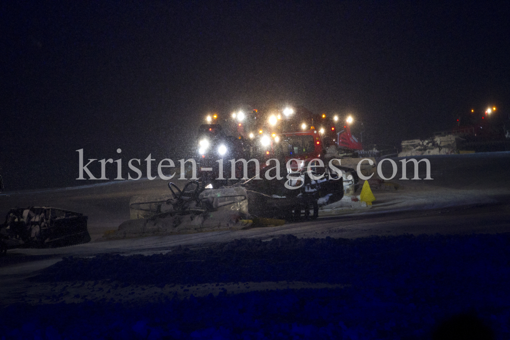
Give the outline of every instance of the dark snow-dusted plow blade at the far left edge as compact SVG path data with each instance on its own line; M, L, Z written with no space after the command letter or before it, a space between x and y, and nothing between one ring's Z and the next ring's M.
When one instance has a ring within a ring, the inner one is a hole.
M87 216L54 207L13 208L0 228L6 249L87 243Z

